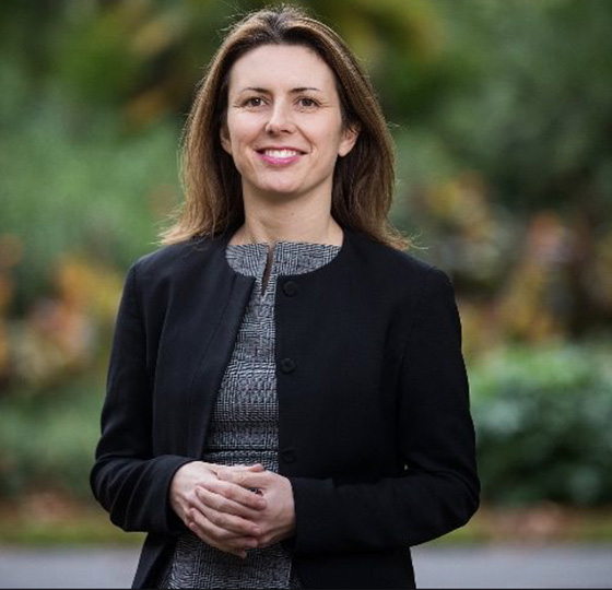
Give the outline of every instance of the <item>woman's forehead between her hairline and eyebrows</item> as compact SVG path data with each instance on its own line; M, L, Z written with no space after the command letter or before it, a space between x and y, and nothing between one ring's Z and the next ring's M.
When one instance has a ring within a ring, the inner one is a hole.
M229 70L229 92L244 87L334 87L330 67L303 45L262 45L242 56Z

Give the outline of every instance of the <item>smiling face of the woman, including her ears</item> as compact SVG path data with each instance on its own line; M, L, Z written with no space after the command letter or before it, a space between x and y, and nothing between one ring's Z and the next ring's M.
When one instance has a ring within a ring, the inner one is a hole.
M356 138L333 72L311 49L263 45L232 67L221 142L245 197L330 198L336 161Z

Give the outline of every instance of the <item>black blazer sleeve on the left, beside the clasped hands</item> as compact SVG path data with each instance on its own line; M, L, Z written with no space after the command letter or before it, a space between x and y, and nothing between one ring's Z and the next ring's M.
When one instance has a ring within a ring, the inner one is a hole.
M146 338L138 305L137 263L128 272L110 352L102 436L90 483L110 520L126 531L178 533L168 502L175 472L192 461L152 453L152 387Z

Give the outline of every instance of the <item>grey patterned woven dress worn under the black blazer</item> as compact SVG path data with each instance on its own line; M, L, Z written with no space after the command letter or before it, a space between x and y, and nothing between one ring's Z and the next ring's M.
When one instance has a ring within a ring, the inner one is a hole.
M302 274L330 262L340 246L279 241L268 267L268 244L228 245L225 256L238 273L256 282L221 382L203 461L262 463L276 472L278 402L274 363L274 297L281 274ZM268 270L268 281L264 274ZM280 544L250 550L246 559L179 536L162 588L302 588L292 556Z

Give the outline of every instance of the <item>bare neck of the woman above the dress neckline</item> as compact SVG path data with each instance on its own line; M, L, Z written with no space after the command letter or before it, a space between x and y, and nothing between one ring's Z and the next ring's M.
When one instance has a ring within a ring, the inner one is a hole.
M342 245L342 228L331 216L328 200L257 200L245 194L245 223L232 244L304 241Z

